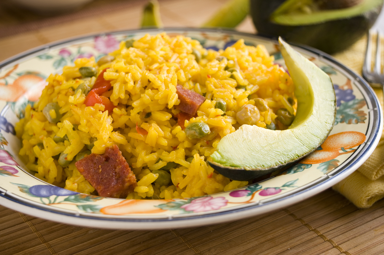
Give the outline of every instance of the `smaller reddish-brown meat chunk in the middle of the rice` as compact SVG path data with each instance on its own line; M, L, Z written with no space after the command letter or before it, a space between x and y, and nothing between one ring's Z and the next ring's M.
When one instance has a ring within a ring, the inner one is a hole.
M184 89L183 86L177 84L177 95L180 99L180 104L176 108L190 115L195 115L199 106L204 103L205 97L189 89Z

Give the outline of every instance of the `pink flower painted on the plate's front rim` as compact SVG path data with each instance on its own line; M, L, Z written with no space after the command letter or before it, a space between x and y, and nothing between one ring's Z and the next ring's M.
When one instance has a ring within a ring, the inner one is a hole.
M227 205L228 200L225 197L199 197L192 200L189 204L180 206L185 211L205 212L217 210Z

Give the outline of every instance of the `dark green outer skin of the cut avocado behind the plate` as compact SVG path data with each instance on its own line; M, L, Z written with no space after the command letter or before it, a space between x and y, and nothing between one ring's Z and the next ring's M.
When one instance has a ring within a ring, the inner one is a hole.
M286 0L250 0L250 14L258 35L281 36L290 43L306 44L333 54L358 41L376 21L382 5L349 19L331 20L306 26L284 26L272 23L271 14Z

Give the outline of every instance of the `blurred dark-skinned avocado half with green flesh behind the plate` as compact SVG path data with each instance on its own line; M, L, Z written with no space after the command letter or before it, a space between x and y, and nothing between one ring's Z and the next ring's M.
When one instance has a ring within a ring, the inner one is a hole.
M250 14L258 35L281 36L290 43L333 54L361 38L383 5L383 0L361 0L352 7L323 9L316 5L318 2L321 1L250 0Z

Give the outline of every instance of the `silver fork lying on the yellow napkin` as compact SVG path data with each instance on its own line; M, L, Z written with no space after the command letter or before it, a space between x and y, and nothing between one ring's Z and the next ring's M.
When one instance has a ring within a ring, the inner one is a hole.
M377 35L377 43L375 51L372 51L373 37ZM380 31L369 30L367 50L365 54L364 66L362 67L362 76L372 87L384 86L384 72L381 70L381 46L383 34ZM375 54L375 64L372 70L372 54Z

